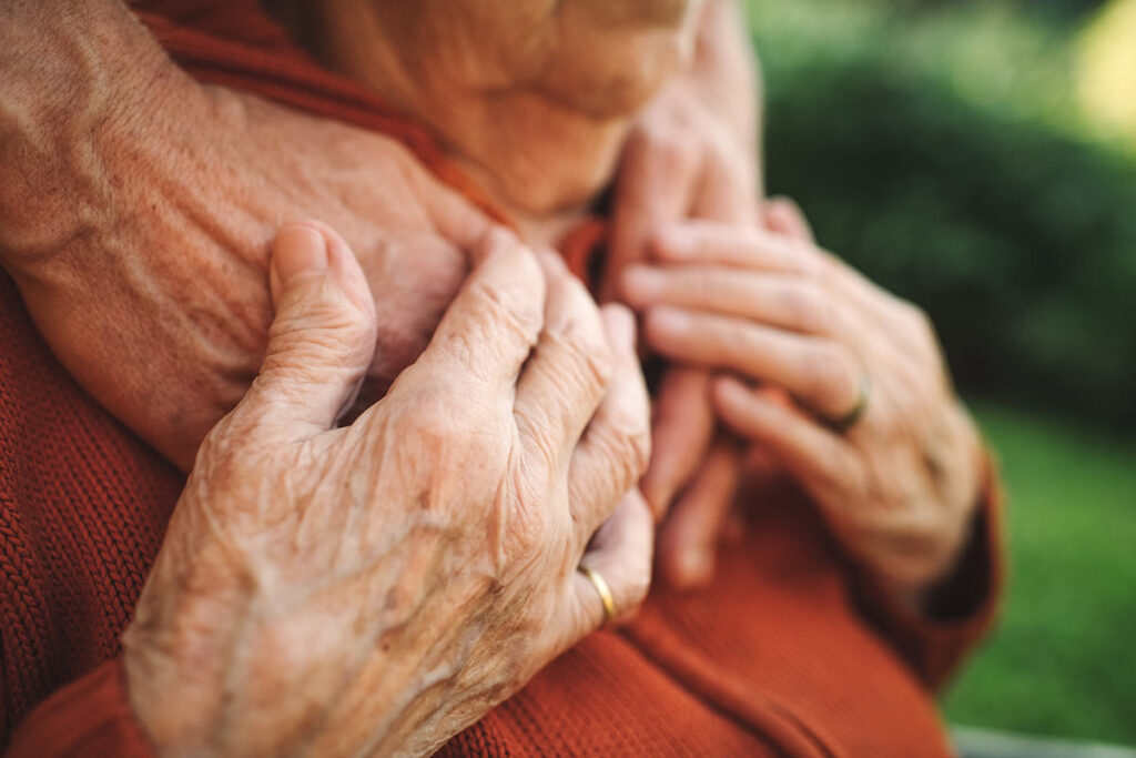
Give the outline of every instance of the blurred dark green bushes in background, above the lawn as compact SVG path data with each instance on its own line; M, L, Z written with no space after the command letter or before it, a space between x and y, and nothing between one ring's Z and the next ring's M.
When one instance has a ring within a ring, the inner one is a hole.
M928 310L964 391L1136 422L1136 161L1081 136L1071 27L913 5L751 1L770 192Z

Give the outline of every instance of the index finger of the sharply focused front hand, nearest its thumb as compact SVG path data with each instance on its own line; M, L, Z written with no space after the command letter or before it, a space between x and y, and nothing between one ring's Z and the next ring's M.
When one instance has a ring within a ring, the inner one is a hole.
M544 323L544 275L533 251L501 228L485 236L474 258L476 267L402 383L442 382L469 392L473 380L511 408L520 367Z

